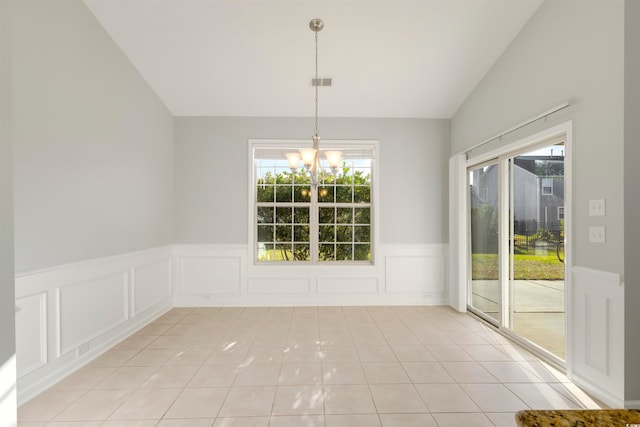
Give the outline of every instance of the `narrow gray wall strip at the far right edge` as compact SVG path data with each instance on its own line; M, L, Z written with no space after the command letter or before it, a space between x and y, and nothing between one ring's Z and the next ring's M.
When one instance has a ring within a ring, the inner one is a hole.
M640 2L625 2L624 70L624 277L625 396L640 400Z

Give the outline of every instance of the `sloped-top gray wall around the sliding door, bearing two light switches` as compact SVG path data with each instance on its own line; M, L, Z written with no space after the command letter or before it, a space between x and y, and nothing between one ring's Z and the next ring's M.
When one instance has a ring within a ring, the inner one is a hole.
M569 119L574 264L623 273L623 0L547 0L452 119L452 153L563 101L572 106L499 141ZM589 217L590 199L606 216ZM606 227L605 244L588 227Z

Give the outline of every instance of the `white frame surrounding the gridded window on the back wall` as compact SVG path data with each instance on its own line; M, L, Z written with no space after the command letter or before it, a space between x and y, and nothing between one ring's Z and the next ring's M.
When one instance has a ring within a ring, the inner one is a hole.
M248 237L249 237L249 256L251 258L250 264L254 267L256 266L289 266L292 268L299 266L313 266L313 267L322 267L322 266L376 266L378 262L378 245L379 245L379 216L378 212L380 206L380 198L379 198L379 142L377 140L322 140L320 142L320 147L322 150L325 149L361 149L361 148L371 148L373 150L373 159L371 161L371 260L370 261L296 261L296 262L280 262L280 261L257 261L257 242L256 242L256 199L255 199L255 182L256 182L256 170L254 166L254 153L256 149L260 148L270 148L270 149L290 149L292 151L296 151L300 148L311 147L312 142L311 138L308 140L302 139L249 139L248 140L248 171L249 171L249 182L248 182L248 200L249 200L249 215L248 215ZM332 204L333 206L333 204ZM317 214L312 209L310 212L310 221L313 224L317 225ZM310 227L310 232L313 233L314 227ZM316 229L317 230L317 229ZM314 242L316 243L314 247ZM311 240L311 251L317 251L317 236L312 234ZM313 259L313 257L312 257Z

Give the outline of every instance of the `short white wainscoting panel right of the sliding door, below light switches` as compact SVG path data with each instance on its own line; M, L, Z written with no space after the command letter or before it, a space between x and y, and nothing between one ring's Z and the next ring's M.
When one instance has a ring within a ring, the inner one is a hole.
M612 407L624 407L624 286L620 275L574 267L571 377Z

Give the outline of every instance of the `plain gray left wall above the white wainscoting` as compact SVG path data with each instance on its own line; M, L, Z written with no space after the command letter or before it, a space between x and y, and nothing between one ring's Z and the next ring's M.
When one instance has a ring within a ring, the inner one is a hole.
M80 0L13 18L16 271L172 243L169 111Z

